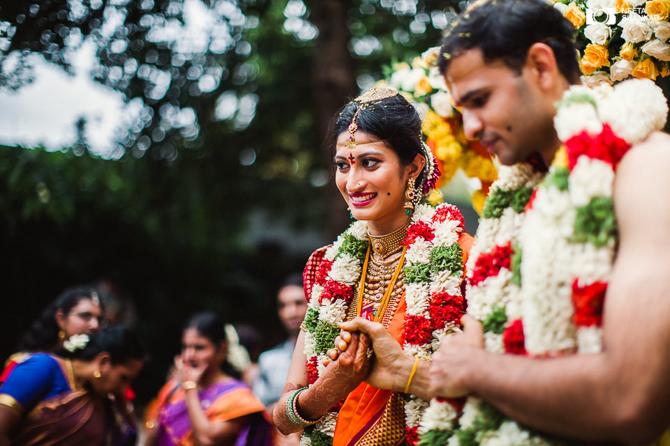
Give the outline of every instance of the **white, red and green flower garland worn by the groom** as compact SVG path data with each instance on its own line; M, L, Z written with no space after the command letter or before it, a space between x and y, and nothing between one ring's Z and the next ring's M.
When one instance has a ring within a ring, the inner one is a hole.
M617 240L616 167L633 144L663 127L667 111L662 91L647 80L594 90L574 86L564 95L555 118L564 146L535 189L525 217L514 208L521 203L512 200L508 208L496 210L498 222L484 218L479 224L468 261L468 313L484 324L486 350L535 357L601 350L602 309ZM533 187L522 172L513 182ZM485 215L491 213L495 192ZM509 221L503 225L505 216ZM520 247L514 246L517 242ZM557 443L474 397L468 398L457 425L456 414L448 414L449 422L431 415L431 410L424 415L419 444Z

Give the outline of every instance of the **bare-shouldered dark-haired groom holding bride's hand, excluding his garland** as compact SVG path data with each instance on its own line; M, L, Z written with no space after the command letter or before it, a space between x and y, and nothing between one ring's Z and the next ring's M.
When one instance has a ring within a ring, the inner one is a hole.
M546 170L560 148L556 102L579 83L573 36L572 25L541 0L484 0L468 8L440 52L466 136L502 164L535 158ZM373 339L377 359L368 382L424 398L476 395L512 420L565 438L657 439L670 426L669 168L670 137L661 132L634 144L616 167L618 229L602 351L551 358L489 353L482 324L465 316L463 333L445 337L432 362L414 367L383 330L357 318L342 327ZM537 249L549 256L556 246Z

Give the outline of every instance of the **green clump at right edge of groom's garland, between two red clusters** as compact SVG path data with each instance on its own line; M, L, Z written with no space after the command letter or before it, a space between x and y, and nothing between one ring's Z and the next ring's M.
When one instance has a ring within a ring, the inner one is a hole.
M593 243L604 247L616 240L616 217L611 198L595 197L588 205L576 209L574 243Z

